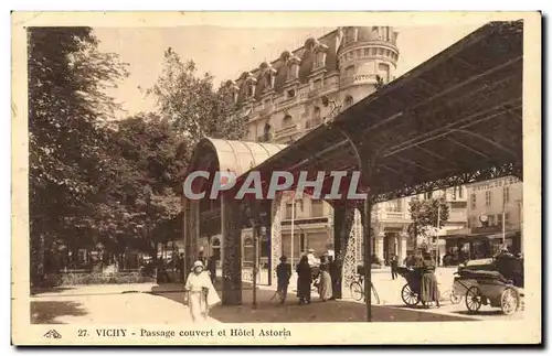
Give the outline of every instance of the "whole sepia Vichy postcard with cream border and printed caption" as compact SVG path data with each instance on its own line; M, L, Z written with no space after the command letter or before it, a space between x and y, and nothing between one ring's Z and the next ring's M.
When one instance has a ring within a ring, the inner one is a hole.
M13 344L542 342L539 12L12 29Z

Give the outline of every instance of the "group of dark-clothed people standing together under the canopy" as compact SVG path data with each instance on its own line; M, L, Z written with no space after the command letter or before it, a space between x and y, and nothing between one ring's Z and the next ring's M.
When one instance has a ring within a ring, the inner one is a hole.
M309 249L307 255L301 256L295 270L297 272L297 298L300 305L310 303L312 287L318 289L322 302L338 298L340 271L332 251L317 258L315 250ZM285 295L291 278L291 266L287 262L286 256L280 257L280 263L276 268L276 277L278 292ZM280 302L284 303L284 301L285 298L282 298Z

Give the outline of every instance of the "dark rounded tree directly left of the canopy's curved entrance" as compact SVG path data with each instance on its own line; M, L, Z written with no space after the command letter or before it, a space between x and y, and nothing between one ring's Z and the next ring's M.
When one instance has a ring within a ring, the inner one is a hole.
M155 252L157 244L180 235L185 142L155 114L121 120L112 134L116 147L112 166L119 179L110 187L107 202L112 207L123 207L127 216L112 223L127 237L146 237L147 241L138 245Z

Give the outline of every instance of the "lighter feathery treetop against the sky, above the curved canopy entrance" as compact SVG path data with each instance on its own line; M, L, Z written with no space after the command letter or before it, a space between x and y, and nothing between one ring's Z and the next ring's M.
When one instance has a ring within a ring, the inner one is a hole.
M213 88L213 76L198 76L193 61L182 62L170 47L156 85L147 94L156 97L160 117L170 122L187 142L188 151L203 137L238 140L246 133L248 118L237 114L232 88Z

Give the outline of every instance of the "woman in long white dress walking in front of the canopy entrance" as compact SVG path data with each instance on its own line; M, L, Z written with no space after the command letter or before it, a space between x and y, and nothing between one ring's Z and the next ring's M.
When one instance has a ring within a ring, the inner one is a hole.
M205 322L211 308L221 302L202 261L193 262L184 291L188 294L188 306L193 322Z

